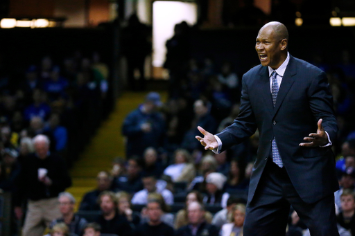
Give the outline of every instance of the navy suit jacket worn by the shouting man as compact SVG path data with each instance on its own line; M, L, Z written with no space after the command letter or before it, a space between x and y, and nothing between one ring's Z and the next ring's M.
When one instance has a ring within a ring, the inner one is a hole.
M234 123L217 134L221 151L241 143L259 129L259 148L254 163L248 202L252 201L269 158L275 136L288 176L306 203L313 203L338 190L335 158L331 147L300 147L303 138L315 133L322 118L330 140L338 126L326 74L290 55L275 107L272 105L267 66L255 66L243 75L241 111Z

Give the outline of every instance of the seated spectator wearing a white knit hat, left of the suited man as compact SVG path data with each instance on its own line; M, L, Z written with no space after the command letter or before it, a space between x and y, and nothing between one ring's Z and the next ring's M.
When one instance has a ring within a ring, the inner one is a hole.
M214 172L207 175L206 178L206 194L203 198L205 204L220 204L223 195L223 185L227 178L220 173Z

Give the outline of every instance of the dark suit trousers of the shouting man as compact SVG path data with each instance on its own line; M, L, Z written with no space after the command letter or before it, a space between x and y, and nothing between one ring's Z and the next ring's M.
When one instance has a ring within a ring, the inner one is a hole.
M268 159L254 199L247 206L243 235L285 235L288 213L293 206L311 236L338 236L334 195L305 203L293 188L285 168L278 167L272 158Z

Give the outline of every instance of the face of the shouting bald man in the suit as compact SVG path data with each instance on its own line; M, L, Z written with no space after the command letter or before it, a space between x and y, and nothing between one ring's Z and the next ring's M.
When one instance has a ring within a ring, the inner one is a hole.
M261 28L257 36L255 49L259 55L262 66L270 66L277 69L282 64L282 41L275 35L271 26Z

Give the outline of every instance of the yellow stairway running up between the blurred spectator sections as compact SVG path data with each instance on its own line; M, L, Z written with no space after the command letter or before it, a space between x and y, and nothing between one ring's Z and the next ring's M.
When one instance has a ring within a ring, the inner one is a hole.
M98 129L94 138L80 154L74 163L70 174L73 181L67 192L73 194L78 208L86 192L96 187L96 175L102 170L110 170L112 161L116 156L125 156L124 138L121 134L121 125L130 111L136 109L144 101L147 92L127 91L116 101L116 105ZM166 100L167 93L160 93L162 101Z

